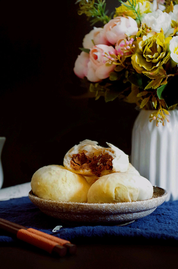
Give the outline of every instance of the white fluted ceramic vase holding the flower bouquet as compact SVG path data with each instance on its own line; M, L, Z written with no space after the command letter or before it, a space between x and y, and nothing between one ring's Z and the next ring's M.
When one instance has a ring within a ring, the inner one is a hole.
M178 200L178 110L170 122L156 126L152 110L141 110L133 126L131 164L153 186L166 189L168 200Z

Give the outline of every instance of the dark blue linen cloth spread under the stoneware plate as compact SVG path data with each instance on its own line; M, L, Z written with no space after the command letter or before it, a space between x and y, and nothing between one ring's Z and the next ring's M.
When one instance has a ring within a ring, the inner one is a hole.
M164 202L150 215L125 226L75 226L70 227L42 213L28 197L0 202L0 218L31 227L42 232L66 239L76 244L86 243L121 243L172 242L178 240L178 201ZM53 229L62 225L56 232ZM17 239L0 229L0 244L17 243Z

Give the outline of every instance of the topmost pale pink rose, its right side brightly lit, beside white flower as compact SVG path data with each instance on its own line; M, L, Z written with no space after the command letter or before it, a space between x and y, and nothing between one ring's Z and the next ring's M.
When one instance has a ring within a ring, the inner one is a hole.
M128 37L138 32L136 21L131 17L118 16L105 24L104 31L107 40L111 44L115 44L118 39L123 39L123 35Z

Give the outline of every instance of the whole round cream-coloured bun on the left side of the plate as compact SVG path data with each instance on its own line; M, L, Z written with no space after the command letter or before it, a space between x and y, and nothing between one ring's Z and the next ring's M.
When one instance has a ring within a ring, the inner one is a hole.
M90 185L82 175L61 165L39 168L31 179L33 193L43 199L64 202L87 202Z

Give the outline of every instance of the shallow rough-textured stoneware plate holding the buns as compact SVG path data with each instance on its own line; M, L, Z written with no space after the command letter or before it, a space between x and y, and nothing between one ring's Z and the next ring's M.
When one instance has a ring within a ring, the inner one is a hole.
M36 197L32 190L28 196L43 213L67 224L125 225L149 215L166 200L166 190L159 187L153 189L153 196L149 200L104 204L45 200Z

